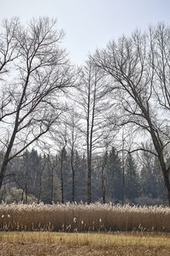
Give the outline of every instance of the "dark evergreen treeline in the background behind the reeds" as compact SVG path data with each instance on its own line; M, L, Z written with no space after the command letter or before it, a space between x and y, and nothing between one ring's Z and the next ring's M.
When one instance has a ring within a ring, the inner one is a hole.
M96 157L92 164L92 202L130 203L138 205L166 204L166 190L156 157L142 154L143 162L136 164L133 155L125 160L124 186L122 160L111 148L105 163L105 188L102 189L104 155ZM61 180L61 160L63 180ZM1 201L87 202L87 159L75 152L75 185L72 187L71 154L64 150L56 156L38 154L37 150L11 161L1 190ZM63 195L61 183L63 182ZM104 193L105 191L105 193ZM74 195L74 199L72 197ZM63 198L62 198L63 196Z

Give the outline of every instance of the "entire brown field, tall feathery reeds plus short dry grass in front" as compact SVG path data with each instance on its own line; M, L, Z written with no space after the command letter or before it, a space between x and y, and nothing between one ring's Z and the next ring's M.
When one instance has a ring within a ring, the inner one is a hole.
M3 203L0 255L170 256L170 208Z

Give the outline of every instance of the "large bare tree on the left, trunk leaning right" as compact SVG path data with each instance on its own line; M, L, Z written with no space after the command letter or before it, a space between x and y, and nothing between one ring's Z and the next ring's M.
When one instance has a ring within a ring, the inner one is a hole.
M3 137L0 142L5 154L0 189L8 162L45 135L59 118L63 111L59 96L71 86L73 77L65 50L59 48L64 33L56 30L55 20L34 19L26 27L18 23L12 26L11 76L1 90L2 97L5 95L9 100L8 104L1 102ZM7 38L10 26L11 23L6 22Z

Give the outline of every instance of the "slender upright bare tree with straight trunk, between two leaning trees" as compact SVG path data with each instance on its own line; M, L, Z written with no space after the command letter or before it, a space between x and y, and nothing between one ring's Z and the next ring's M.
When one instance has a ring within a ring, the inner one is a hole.
M91 203L91 178L92 162L94 154L99 153L99 143L102 142L102 134L105 132L106 109L109 102L106 99L105 76L99 73L89 59L82 69L81 85L79 88L79 107L81 108L82 133L85 137L87 148L87 169L88 169L88 204ZM101 148L100 148L101 151Z

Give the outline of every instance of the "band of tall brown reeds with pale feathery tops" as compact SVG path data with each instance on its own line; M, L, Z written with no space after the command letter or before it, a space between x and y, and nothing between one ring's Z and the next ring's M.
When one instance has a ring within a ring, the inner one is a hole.
M1 204L0 230L170 231L170 207Z

